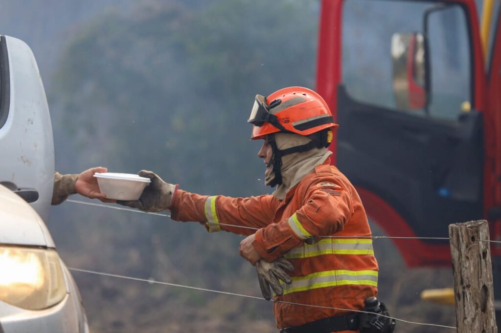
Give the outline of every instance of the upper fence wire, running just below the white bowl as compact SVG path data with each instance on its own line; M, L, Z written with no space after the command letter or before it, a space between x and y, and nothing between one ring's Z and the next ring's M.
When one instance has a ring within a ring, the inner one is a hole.
M110 208L110 209L117 209L117 210L126 210L126 211L132 211L136 213L143 213L143 214L151 214L151 215L157 215L157 216L164 216L164 217L171 217L170 214L164 214L164 213L159 213L159 212L146 212L146 211L141 211L138 209L133 209L133 208L125 208L125 207L119 207L119 206L112 206L109 204L102 204L102 203L94 203L94 202L87 202L87 201L81 201L81 200L73 200L73 199L67 199L67 202L73 202L73 203L80 203L80 204L87 204L91 206L97 206L97 207L104 207L104 208ZM207 222L211 223L211 222ZM216 223L213 223L216 224ZM255 228L252 226L245 226L245 225L235 225L235 224L227 224L227 223L217 223L219 225L225 225L225 226L231 226L231 227L237 227L237 228L244 228L244 229L251 229L251 230L259 230L259 228ZM369 238L369 239L435 239L435 240L449 240L449 237L408 237L408 236L361 236L361 235L351 235L351 236L340 236L340 235L328 235L328 236L317 236L319 238ZM499 240L490 240L490 239L476 239L478 241L488 241L491 243L501 243Z

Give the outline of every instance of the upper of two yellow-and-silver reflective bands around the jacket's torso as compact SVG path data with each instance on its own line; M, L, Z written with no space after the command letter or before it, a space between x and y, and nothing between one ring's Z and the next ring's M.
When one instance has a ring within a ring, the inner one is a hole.
M325 238L314 244L304 243L287 252L284 257L288 259L309 258L323 254L356 254L374 255L372 239L358 238Z

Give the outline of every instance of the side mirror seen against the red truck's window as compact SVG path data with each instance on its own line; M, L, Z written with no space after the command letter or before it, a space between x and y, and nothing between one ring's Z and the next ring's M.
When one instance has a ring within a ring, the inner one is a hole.
M396 107L422 110L428 101L427 54L422 33L394 33L391 37L393 92Z

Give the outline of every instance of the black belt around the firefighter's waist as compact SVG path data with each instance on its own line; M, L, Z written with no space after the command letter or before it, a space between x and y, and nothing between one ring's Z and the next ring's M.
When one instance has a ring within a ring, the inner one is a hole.
M331 333L341 330L359 329L358 313L336 315L329 318L307 322L301 326L282 328L280 333Z

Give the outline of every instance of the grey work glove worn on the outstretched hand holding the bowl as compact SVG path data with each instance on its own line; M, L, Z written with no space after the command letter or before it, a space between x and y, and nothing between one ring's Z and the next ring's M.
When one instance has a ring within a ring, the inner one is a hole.
M144 188L141 197L133 201L118 200L117 203L138 208L142 211L161 211L170 208L176 185L163 181L162 178L151 171L141 170L138 174L141 177L151 179L149 185Z

